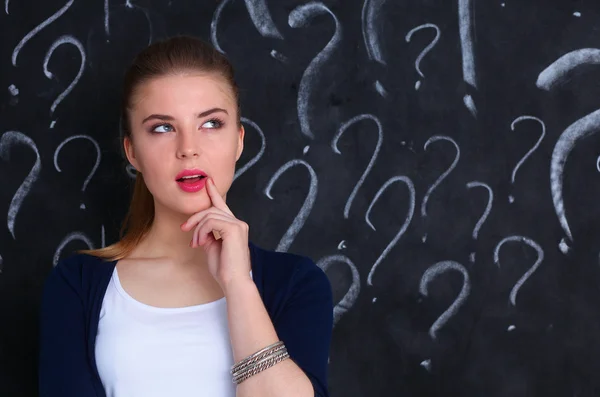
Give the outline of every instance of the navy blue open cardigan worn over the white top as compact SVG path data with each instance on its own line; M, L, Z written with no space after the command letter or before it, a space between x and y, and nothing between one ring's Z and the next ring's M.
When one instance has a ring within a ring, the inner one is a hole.
M306 256L268 251L252 242L248 246L252 277L277 335L311 380L315 396L329 397L333 302L327 275ZM116 261L73 254L47 276L40 312L40 397L106 396L94 349L100 308L115 265Z

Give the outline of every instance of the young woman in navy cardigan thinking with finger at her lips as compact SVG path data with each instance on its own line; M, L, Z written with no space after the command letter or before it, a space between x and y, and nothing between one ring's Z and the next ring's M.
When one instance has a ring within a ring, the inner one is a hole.
M121 239L47 277L40 396L329 396L327 276L254 245L225 201L244 146L227 59L189 36L150 45L121 124L137 171Z

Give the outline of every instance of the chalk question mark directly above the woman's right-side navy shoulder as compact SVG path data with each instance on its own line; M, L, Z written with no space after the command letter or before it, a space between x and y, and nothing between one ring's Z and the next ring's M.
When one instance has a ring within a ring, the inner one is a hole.
M267 187L265 188L265 196L273 200L273 196L271 196L271 189L273 188L275 182L277 182L279 177L288 169L299 165L304 166L308 170L310 175L310 186L308 188L308 194L306 195L306 198L304 200L304 203L302 204L302 207L300 208L300 211L298 211L298 214L296 214L294 221L292 222L288 230L285 232L281 240L279 240L279 244L277 244L277 248L275 248L275 251L277 252L287 252L287 250L294 242L296 235L300 232L302 226L304 226L304 222L306 222L306 219L308 218L308 215L310 214L310 211L312 210L312 207L315 203L315 199L317 198L317 187L319 181L315 170L313 170L310 164L308 164L304 160L294 159L282 165L271 177L267 184Z

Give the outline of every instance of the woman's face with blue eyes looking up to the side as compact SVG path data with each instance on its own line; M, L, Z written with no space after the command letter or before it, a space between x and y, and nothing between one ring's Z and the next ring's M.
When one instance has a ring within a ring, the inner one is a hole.
M225 198L244 129L237 127L237 104L223 78L189 73L145 82L134 94L129 120L133 140L125 139L125 152L155 207L191 215L211 206L206 187L194 193L180 187L176 177L185 169L204 171Z

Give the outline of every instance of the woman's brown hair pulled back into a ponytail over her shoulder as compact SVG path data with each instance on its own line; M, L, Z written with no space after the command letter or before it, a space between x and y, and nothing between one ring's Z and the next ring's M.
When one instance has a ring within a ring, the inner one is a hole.
M123 81L121 102L120 147L124 155L123 141L132 139L129 110L137 89L145 82L167 75L200 72L223 78L231 87L237 106L237 125L240 122L239 89L234 79L229 60L207 42L187 35L178 35L152 43L135 56ZM100 249L79 250L107 260L118 260L127 256L146 236L154 221L154 199L146 187L144 177L136 171L135 185L129 211L121 225L120 240Z

